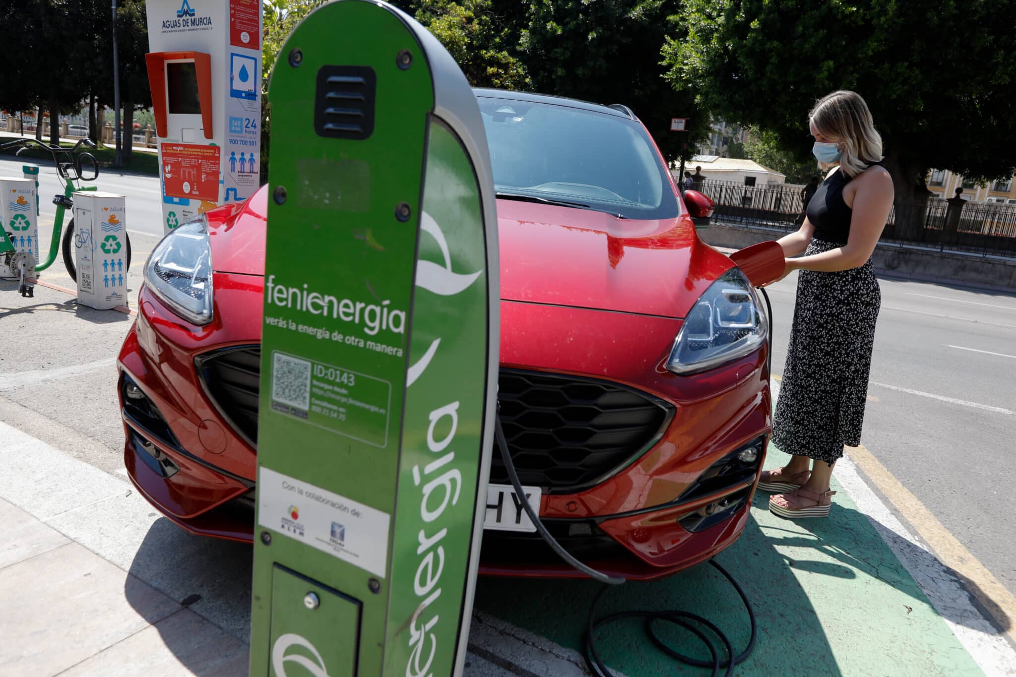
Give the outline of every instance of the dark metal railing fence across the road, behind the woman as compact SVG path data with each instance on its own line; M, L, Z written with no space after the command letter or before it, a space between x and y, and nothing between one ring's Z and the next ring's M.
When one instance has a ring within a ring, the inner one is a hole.
M786 231L797 229L804 220L802 189L786 184L746 186L711 179L696 186L716 203L713 218L717 221ZM1016 208L967 202L958 217L952 216L955 222L950 222L949 214L946 200L930 199L918 238L900 239L896 235L894 207L880 242L1016 258Z

